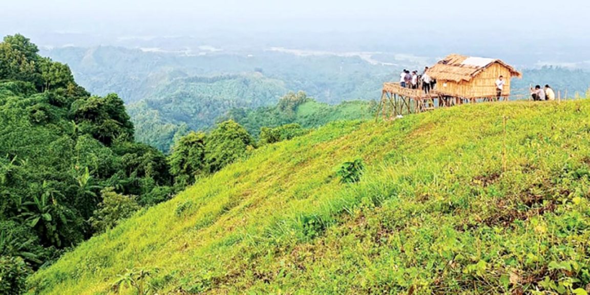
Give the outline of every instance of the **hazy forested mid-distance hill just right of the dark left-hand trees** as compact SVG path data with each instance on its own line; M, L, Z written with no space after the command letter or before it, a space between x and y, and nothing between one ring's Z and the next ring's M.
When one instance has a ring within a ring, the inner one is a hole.
M168 152L187 130L208 130L229 110L274 104L287 93L283 82L261 74L175 78L129 105L137 140Z

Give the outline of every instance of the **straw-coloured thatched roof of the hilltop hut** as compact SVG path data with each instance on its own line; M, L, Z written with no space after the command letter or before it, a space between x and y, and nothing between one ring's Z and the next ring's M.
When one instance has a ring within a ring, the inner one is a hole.
M434 67L428 69L430 77L447 81L471 81L477 74L493 64L501 64L510 70L512 77L522 77L522 74L501 60L483 57L467 57L465 55L451 54L439 61Z

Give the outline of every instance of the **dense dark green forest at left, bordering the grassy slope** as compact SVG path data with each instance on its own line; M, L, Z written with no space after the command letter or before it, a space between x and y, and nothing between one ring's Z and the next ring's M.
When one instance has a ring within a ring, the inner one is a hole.
M272 132L273 142L306 133L300 126ZM209 133L179 136L166 156L135 141L135 127L117 94L92 96L74 81L68 65L41 57L22 35L5 37L0 42L0 294L20 294L32 271L256 146L250 133L230 120Z

